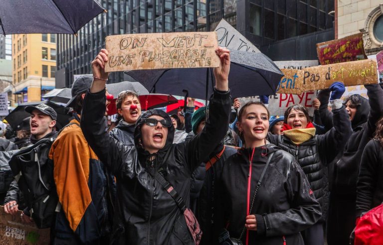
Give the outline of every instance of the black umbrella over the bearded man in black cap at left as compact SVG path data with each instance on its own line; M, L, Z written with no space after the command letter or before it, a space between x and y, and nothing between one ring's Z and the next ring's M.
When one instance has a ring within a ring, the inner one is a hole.
M68 109L50 101L27 102L27 103L18 104L18 106L11 113L9 113L8 116L5 117L5 120L15 130L17 128L17 125L19 125L23 119L30 116L29 113L24 111L25 107L37 106L39 104L46 104L56 111L57 113L56 125L58 129L60 129L61 127L69 123L70 116L67 114Z

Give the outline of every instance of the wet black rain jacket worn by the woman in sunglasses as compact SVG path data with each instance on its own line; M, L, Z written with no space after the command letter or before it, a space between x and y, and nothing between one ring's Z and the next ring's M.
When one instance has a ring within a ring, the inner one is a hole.
M125 243L193 244L184 215L147 168L153 164L155 169L163 169L164 177L188 205L192 171L207 158L227 131L231 104L229 92L214 91L210 97L210 117L203 131L192 140L173 144L175 129L169 127L166 145L155 153L154 163L149 161L153 154L144 151L138 143L142 120L151 115L159 115L169 121L170 117L160 110L143 113L136 123L136 147L128 147L108 134L104 118L105 101L105 90L87 93L81 129L94 152L116 176L118 201L115 219L121 219L125 228Z

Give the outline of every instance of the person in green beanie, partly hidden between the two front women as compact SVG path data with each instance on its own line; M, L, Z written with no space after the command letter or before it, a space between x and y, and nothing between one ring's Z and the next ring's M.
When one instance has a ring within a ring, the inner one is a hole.
M185 119L187 118L185 113ZM208 115L207 115L208 116ZM202 131L206 120L206 107L201 107L192 114L192 132L188 135L197 135ZM226 159L235 154L237 150L223 144L223 139L192 173L190 205L195 214L203 236L201 245L210 245L216 242L213 236L213 207L216 198L214 183L219 181Z

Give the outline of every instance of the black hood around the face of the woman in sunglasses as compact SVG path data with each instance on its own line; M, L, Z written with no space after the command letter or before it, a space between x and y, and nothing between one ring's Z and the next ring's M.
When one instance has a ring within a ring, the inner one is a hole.
M137 148L139 148L138 140L141 138L141 126L144 123L143 120L147 119L151 116L160 116L163 117L166 121L170 122L170 127L168 127L168 137L166 139L165 147L167 148L173 144L173 139L174 139L174 126L172 123L171 118L169 117L168 114L166 114L164 111L158 110L158 109L152 109L148 110L146 112L143 112L141 116L138 118L136 122L136 127L134 129L134 144L136 145Z

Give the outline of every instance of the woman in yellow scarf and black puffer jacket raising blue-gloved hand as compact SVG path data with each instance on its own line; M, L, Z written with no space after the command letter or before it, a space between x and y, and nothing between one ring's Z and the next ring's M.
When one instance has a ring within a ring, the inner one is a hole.
M342 104L345 87L342 83L331 85L331 108L334 126L325 134L315 135L316 128L308 109L296 104L290 106L284 115L283 135L269 133L271 143L292 154L302 167L310 182L312 192L322 208L322 218L317 224L302 232L305 244L324 245L323 224L328 210L327 166L338 152L343 150L350 134L351 122Z

